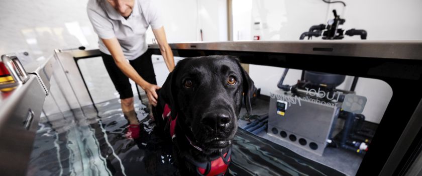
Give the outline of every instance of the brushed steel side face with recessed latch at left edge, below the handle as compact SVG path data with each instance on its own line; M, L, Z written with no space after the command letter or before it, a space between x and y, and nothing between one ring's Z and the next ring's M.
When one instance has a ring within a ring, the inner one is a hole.
M9 93L1 93L0 171L2 175L24 175L45 99L35 75ZM32 119L31 119L32 118ZM26 124L27 123L27 124ZM25 128L27 125L27 128Z

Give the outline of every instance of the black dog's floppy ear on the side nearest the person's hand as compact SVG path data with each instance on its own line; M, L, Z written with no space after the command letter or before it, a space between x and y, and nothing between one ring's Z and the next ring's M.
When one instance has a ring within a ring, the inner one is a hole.
M177 104L176 104L176 89L175 89L175 78L176 78L176 68L173 69L167 76L166 81L160 89L160 96L162 96L164 102L171 109L170 116L176 118L177 116Z

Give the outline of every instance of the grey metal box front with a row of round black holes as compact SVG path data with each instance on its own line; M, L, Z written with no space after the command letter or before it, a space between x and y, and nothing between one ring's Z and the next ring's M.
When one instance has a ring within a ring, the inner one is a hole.
M333 123L335 122L339 108L337 106L322 105L310 100L292 97L290 93L277 90L271 93L270 107L268 112L268 134L283 141L292 143L310 152L322 155L327 145ZM276 102L280 97L287 102L285 115L277 114ZM272 129L278 130L277 134ZM280 131L287 133L286 137L281 137ZM289 135L294 135L296 140L289 139ZM306 140L306 144L301 145L299 139ZM310 143L314 142L318 148L311 149Z

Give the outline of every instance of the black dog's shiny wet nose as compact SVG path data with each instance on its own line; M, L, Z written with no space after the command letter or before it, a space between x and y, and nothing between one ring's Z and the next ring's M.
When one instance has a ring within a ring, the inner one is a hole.
M226 113L207 113L201 120L202 124L214 130L227 127L231 120L230 116Z

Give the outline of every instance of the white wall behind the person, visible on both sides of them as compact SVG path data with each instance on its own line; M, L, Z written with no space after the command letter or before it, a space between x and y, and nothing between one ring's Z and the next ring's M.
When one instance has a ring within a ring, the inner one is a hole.
M167 41L227 40L226 0L156 0L161 7ZM54 49L98 48L98 37L86 15L87 0L1 1L0 54L29 51L49 56ZM147 42L154 38L151 29Z

